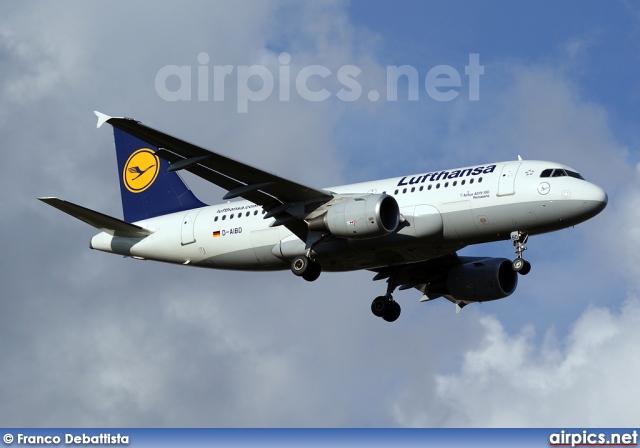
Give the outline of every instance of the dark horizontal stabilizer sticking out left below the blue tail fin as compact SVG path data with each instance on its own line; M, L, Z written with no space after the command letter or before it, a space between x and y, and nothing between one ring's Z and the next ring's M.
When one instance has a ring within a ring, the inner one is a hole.
M153 233L152 231L136 226L135 224L129 224L128 222L81 207L72 202L63 201L62 199L38 199L68 215L73 216L74 218L79 219L80 221L86 222L98 230L108 233L109 235L127 238L144 238L145 236L149 236Z

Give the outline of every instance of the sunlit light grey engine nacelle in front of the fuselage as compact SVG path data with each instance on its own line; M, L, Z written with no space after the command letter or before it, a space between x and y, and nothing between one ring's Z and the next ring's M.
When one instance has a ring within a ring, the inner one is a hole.
M329 231L340 238L376 238L398 228L400 208L386 194L337 198L323 206L319 216L309 219L310 230Z

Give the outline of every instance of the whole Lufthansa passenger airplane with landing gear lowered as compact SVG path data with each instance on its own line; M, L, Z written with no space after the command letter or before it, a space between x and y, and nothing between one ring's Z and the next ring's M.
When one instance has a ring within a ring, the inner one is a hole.
M131 118L100 112L113 127L124 220L55 197L41 201L99 229L92 249L202 268L322 271L366 269L386 280L371 311L400 316L397 289L439 297L456 312L510 296L531 264L529 236L572 227L607 205L599 186L568 166L492 162L330 188L314 188L208 151ZM179 175L222 187L207 205ZM233 200L242 198L241 200ZM233 201L232 201L233 200ZM515 259L459 256L474 244L511 241Z

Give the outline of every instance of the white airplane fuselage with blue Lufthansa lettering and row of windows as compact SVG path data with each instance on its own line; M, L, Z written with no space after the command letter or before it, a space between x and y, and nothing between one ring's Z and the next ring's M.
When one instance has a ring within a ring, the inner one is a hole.
M314 248L325 271L419 262L469 245L562 229L599 213L606 193L581 178L541 177L571 170L543 161L513 161L435 171L328 188L333 194L393 196L401 225L370 239L330 237ZM263 210L233 201L143 220L144 238L100 233L91 247L136 258L219 269L288 269L305 242L284 226L270 227Z

